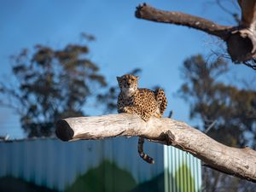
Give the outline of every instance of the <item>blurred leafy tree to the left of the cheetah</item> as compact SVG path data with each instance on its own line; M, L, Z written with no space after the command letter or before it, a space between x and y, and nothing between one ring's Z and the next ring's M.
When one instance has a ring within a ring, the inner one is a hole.
M93 36L84 34L87 40ZM15 82L0 82L0 93L9 99L1 102L15 108L28 137L49 137L57 119L83 116L89 96L107 86L96 63L88 59L86 44L68 44L64 49L37 45L30 54L23 49L12 56Z

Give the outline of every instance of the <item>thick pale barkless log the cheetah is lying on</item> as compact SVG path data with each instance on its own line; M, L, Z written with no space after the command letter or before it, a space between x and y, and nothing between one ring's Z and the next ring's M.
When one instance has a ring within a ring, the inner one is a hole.
M256 182L256 151L230 148L174 119L153 117L144 122L129 113L68 118L57 122L55 132L63 141L142 136L187 151L221 172Z

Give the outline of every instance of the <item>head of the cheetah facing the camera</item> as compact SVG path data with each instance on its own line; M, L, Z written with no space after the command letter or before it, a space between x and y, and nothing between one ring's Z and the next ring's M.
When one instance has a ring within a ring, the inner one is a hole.
M137 90L137 76L125 74L121 77L117 77L116 79L119 82L120 90L124 92L126 95L132 95L132 93L134 93Z

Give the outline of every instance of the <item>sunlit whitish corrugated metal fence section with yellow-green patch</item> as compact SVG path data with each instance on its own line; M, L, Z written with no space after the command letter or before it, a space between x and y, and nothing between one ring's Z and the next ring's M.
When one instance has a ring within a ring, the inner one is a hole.
M201 190L201 160L172 146L164 146L165 191Z

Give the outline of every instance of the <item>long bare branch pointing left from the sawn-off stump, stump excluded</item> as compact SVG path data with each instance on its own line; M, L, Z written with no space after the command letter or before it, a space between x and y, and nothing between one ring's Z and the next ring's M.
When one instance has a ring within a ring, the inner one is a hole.
M211 20L182 12L155 9L146 3L139 5L135 14L139 19L189 26L222 39L226 39L229 33L234 30L234 26L219 26Z

